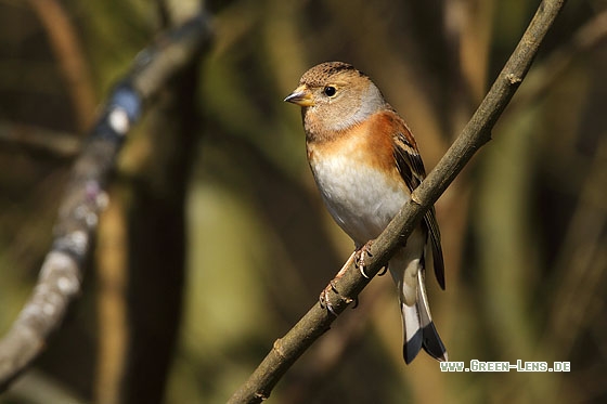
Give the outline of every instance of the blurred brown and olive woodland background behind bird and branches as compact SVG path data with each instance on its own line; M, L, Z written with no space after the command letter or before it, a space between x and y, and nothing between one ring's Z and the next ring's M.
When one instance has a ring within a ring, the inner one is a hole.
M215 41L167 86L109 185L83 291L0 403L222 403L352 251L282 100L324 61L370 75L430 170L539 1L209 1ZM35 285L72 162L137 53L197 1L0 1L0 331ZM570 1L485 146L437 204L451 361L405 366L375 278L269 403L607 400L607 2Z

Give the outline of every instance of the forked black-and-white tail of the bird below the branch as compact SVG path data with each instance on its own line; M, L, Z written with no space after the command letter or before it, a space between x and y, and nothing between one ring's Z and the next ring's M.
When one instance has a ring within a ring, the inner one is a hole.
M422 268L417 271L417 298L413 304L408 305L403 296L400 298L404 330L402 353L406 364L410 364L417 356L422 348L438 361L449 361L447 350L440 340L430 315L423 272ZM399 296L401 295L399 294Z

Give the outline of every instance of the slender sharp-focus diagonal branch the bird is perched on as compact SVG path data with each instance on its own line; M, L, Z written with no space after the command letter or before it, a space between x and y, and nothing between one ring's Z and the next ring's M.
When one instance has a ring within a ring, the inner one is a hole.
M396 248L406 239L424 213L432 206L449 184L462 171L473 155L491 139L491 129L525 78L540 43L565 4L565 0L544 0L527 27L491 90L482 100L462 134L413 192L386 230L375 239L372 257L365 260L365 272L375 276ZM364 278L351 264L344 276L335 281L339 295L333 294L330 303L337 314L362 291L370 279ZM312 309L281 339L234 393L230 403L259 403L266 400L274 386L297 359L331 326L335 316L314 304Z

